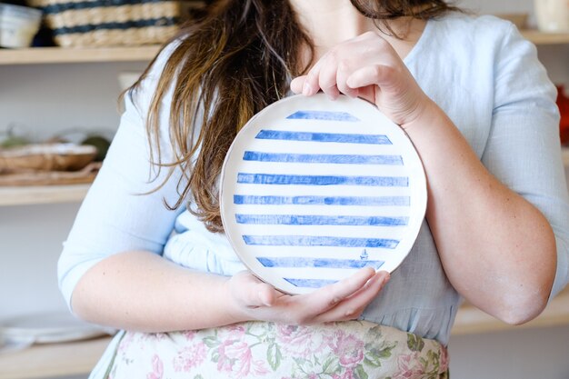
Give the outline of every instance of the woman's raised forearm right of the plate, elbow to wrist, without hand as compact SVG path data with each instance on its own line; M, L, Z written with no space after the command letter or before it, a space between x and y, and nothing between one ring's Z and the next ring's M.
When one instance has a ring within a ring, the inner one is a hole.
M544 215L500 183L436 105L403 125L423 160L427 221L460 294L520 324L539 314L554 282L554 234Z

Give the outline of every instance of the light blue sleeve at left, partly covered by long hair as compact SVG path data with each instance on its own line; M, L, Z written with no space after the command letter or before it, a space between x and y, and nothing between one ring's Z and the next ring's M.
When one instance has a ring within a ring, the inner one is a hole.
M175 218L182 212L165 206L165 200L173 204L178 198L179 172L152 192L164 181L168 170L158 172L150 165L145 130L145 116L156 80L171 50L163 51L134 94L125 95L125 111L113 142L64 243L57 271L60 289L69 306L75 285L105 257L129 250L162 254ZM159 144L164 162L172 158L172 148L165 137L168 112L167 106L163 106ZM150 181L155 175L155 180Z

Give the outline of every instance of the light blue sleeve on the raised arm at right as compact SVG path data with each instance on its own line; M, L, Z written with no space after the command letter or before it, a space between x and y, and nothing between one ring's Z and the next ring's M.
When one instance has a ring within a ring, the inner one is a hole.
M569 196L556 91L535 46L513 25L496 55L493 122L482 161L551 224L557 246L553 298L569 279Z

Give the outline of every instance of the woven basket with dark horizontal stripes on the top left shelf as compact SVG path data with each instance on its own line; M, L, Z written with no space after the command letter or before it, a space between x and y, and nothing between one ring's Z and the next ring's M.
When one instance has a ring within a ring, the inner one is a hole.
M175 35L179 1L30 0L64 47L161 44Z

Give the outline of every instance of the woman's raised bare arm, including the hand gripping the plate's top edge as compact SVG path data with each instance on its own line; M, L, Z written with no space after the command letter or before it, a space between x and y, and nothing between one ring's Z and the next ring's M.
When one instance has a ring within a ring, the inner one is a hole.
M556 264L551 225L486 170L381 36L366 33L335 46L291 88L304 95L322 90L332 98L340 93L363 97L401 125L424 165L426 218L456 291L509 324L543 311Z

